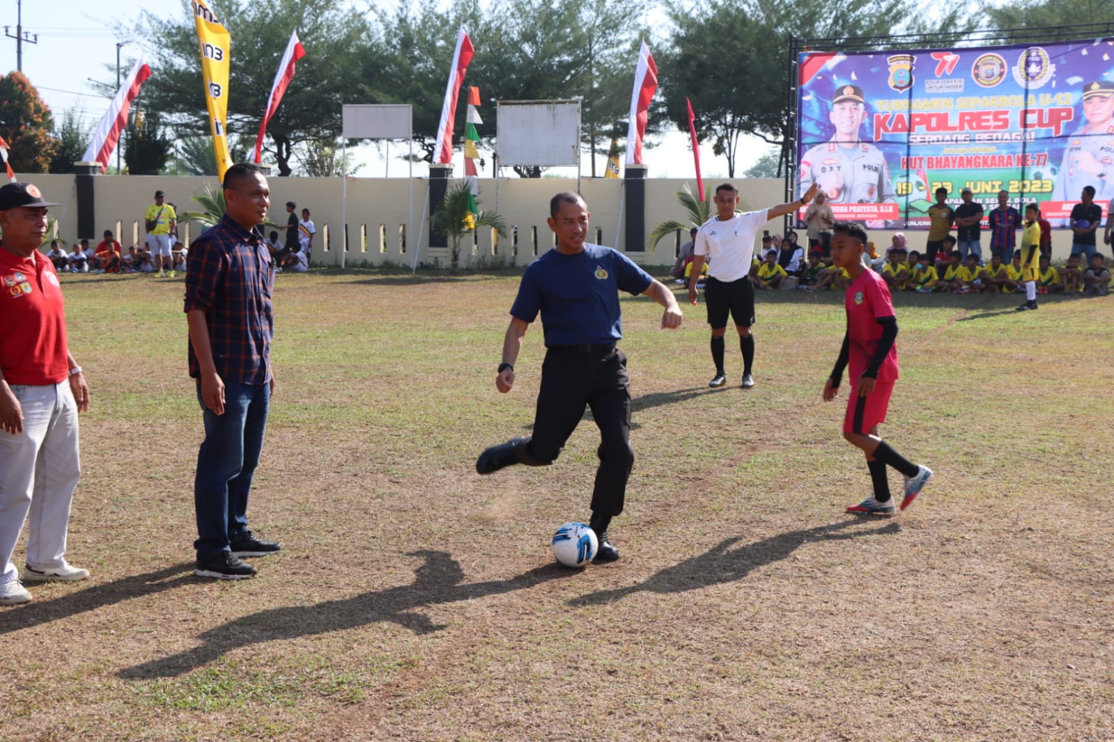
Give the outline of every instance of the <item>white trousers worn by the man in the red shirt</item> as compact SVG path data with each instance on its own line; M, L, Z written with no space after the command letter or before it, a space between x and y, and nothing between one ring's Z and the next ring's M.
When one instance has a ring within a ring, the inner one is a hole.
M19 576L12 552L30 515L27 564L61 566L74 488L81 477L77 403L69 382L11 385L23 408L23 432L0 428L0 583Z

